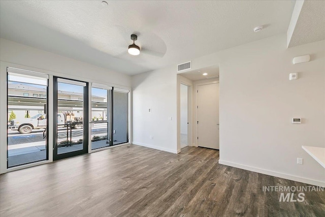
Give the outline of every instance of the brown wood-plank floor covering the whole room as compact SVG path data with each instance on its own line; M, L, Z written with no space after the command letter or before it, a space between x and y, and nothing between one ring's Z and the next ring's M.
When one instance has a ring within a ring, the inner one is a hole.
M307 184L218 159L201 147L128 145L9 172L0 176L0 216L325 216L325 192L279 202L263 186Z

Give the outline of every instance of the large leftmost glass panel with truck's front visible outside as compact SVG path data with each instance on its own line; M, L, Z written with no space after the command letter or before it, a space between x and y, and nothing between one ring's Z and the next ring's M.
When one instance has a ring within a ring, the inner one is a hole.
M8 168L48 159L48 75L8 68Z

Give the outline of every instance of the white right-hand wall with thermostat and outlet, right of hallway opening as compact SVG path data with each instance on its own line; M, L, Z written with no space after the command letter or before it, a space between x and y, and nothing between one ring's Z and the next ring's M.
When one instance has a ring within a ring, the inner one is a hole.
M285 46L273 37L222 52L220 163L325 185L324 168L301 148L325 147L324 41ZM293 65L304 54L311 61Z

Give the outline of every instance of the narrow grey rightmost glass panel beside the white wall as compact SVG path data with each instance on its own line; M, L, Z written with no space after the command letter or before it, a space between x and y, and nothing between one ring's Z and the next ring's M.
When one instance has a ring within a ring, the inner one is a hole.
M128 93L113 91L113 145L128 142Z

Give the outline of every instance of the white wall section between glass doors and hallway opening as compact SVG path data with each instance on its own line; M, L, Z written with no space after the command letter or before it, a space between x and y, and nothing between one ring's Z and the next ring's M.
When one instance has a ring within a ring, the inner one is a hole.
M134 144L177 153L175 68L132 77ZM148 112L149 108L152 112ZM170 117L172 120L169 120Z

